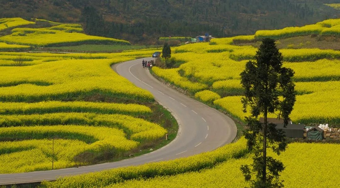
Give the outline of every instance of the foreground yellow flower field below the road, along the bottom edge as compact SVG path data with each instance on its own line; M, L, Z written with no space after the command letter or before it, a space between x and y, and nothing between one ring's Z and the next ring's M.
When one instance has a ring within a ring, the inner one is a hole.
M293 143L281 155L269 155L282 161L286 169L282 173L285 187L337 187L339 164L315 165L312 159L338 159L339 144ZM43 182L45 187L245 187L249 186L239 170L241 164L250 164L252 158L246 152L244 138L215 151L167 162L137 167L126 167L89 173ZM329 170L331 169L331 170ZM318 174L327 174L328 179ZM297 175L297 174L300 174ZM305 175L301 175L305 174ZM306 181L302 177L316 178ZM100 181L98 181L100 180Z

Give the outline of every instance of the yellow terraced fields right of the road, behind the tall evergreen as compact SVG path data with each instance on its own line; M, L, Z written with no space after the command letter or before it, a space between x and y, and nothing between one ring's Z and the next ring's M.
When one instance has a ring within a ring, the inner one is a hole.
M264 37L275 39L304 35L339 36L340 19L325 20L303 27L260 30L253 36L212 39L210 43L189 44L173 49L175 61L185 62L178 68L154 73L168 82L189 91L197 99L214 104L243 120L240 98L240 73L245 63L254 59L256 48L236 43L256 43ZM278 41L279 43L279 41ZM291 119L295 123L328 123L340 126L340 51L333 49L280 49L284 66L295 71L298 96Z

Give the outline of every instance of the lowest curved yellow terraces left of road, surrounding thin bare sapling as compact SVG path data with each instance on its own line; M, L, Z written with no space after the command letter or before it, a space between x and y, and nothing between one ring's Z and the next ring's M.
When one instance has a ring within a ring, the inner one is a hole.
M0 128L0 173L26 172L25 169L41 170L45 164L45 170L51 169L51 164L44 155L40 155L40 144L48 143L46 139L55 139L56 150L63 150L63 155L58 155L57 163L59 168L72 167L81 164L76 159L82 153L98 155L110 149L115 155L136 148L140 143L129 140L122 130L110 127L92 127L80 125L54 125L54 126L31 126L31 127L7 127ZM6 142L6 140L12 142ZM14 142L13 142L14 140ZM62 140L69 140L67 145L59 145ZM74 146L72 146L74 143ZM45 145L46 146L46 145ZM47 145L49 146L49 145ZM34 160L21 158L22 155L36 158L36 163L30 164ZM17 160L14 160L17 159ZM86 162L85 164L89 164ZM25 164L25 162L29 164ZM64 162L71 165L62 165ZM35 169L36 168L36 169Z

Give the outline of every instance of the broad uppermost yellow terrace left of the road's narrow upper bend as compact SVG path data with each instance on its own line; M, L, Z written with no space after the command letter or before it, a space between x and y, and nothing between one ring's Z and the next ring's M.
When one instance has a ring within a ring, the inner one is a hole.
M18 53L20 54L22 53ZM0 88L0 101L64 100L100 93L116 98L152 102L154 99L149 91L134 86L110 68L111 64L132 59L134 57L66 59L57 61L58 63L49 61L23 67L0 67L3 75L0 78L0 85L3 86Z

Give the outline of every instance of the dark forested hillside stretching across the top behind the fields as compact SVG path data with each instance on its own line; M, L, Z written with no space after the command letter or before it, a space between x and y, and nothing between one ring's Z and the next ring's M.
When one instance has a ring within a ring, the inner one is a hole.
M335 0L0 0L0 17L80 22L87 34L133 42L160 36L214 37L301 26L340 11Z

